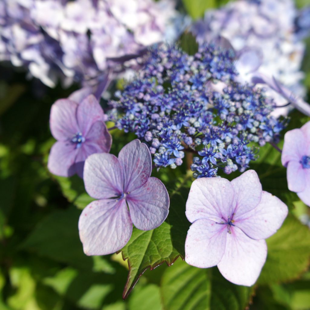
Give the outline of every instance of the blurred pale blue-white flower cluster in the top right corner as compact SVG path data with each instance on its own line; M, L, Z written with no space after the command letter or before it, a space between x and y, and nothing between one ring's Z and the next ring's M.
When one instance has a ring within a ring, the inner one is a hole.
M200 44L214 41L219 35L229 39L239 58L239 79L251 82L257 73L274 77L303 98L304 73L300 68L305 46L299 33L308 27L307 9L303 14L295 9L292 0L240 0L206 11L204 19L193 24L191 31ZM268 84L259 86L265 86L266 94L279 106L273 115L287 114L287 98Z

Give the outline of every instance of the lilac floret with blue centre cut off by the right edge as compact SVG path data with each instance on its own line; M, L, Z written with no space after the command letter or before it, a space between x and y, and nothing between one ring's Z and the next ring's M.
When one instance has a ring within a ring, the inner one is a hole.
M289 190L310 206L310 121L285 134L281 160Z

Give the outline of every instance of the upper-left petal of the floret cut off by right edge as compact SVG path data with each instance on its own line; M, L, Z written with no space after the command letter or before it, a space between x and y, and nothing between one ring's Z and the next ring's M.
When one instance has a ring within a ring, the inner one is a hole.
M299 162L301 157L306 155L306 141L303 132L296 128L288 131L284 135L284 144L281 155L281 162L283 166L291 160Z

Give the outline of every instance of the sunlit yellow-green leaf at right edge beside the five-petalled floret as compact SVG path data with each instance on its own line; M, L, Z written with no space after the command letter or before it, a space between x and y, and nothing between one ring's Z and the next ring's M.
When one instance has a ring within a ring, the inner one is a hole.
M282 227L267 240L268 255L258 284L291 281L308 268L310 231L289 215Z

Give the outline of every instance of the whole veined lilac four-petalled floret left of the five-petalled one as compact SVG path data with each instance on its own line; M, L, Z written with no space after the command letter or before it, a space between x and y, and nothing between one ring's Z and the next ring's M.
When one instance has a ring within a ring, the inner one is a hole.
M78 223L86 255L120 250L131 237L132 224L151 230L166 219L169 195L151 172L151 154L138 139L126 144L118 157L101 153L86 159L85 188L98 199L86 206Z

